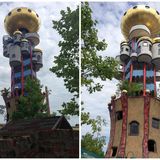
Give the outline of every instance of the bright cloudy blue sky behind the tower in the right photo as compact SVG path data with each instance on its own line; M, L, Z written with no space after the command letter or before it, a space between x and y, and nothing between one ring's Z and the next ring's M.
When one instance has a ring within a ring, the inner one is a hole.
M99 55L104 57L115 57L120 54L120 43L124 40L120 23L125 11L137 4L144 4L160 12L160 3L157 2L90 2L89 4L93 12L92 18L98 21L96 26L98 37L100 40L105 39L108 44L105 51L98 52ZM85 104L85 111L90 112L91 118L96 118L97 115L100 115L107 121L107 126L102 129L102 136L106 136L106 146L104 146L103 150L106 151L110 134L108 103L111 100L111 96L115 94L118 81L116 79L103 82L98 79L96 81L104 85L103 90L89 94L85 88L82 88L82 100ZM89 131L89 126L82 126L82 135Z

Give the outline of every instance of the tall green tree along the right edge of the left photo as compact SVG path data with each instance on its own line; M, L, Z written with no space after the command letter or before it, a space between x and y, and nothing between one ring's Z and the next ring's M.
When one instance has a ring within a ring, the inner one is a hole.
M79 115L79 7L62 10L61 18L53 21L53 28L61 35L59 42L60 53L55 56L54 66L50 71L64 79L64 85L73 98L62 104L63 115Z

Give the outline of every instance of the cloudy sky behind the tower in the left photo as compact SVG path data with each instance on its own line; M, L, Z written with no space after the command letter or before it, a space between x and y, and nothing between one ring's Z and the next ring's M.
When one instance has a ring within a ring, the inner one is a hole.
M60 19L61 10L66 10L67 7L74 10L77 5L78 2L0 2L0 90L4 87L10 87L11 77L9 59L3 57L2 37L7 34L3 24L4 18L9 11L16 7L29 7L35 10L41 19L41 26L38 32L40 44L37 48L41 48L43 51L43 68L37 73L37 77L41 81L41 84L51 90L51 95L49 96L51 112L61 109L61 104L72 98L72 95L64 87L63 79L57 78L56 75L49 71L49 68L53 66L54 56L59 54L60 48L58 47L58 42L61 40L61 36L52 28L52 20ZM0 105L4 105L1 96ZM75 125L79 122L79 118L74 116L69 121L71 125ZM3 122L4 118L0 115L0 123Z

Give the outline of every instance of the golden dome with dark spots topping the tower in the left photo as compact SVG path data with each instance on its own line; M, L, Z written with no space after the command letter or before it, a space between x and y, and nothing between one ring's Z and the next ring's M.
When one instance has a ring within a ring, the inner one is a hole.
M40 26L40 18L35 11L29 8L15 8L5 17L4 26L9 35L13 35L16 30L21 28L25 28L31 33L37 32Z

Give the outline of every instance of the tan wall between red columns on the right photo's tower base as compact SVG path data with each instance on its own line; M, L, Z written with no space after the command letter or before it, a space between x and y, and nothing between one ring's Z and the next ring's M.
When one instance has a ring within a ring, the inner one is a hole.
M146 96L147 97L147 96ZM160 117L160 100L153 98L153 97L148 97L149 98L149 119L148 119L148 137L147 137L147 142L148 140L152 139L156 142L156 151L155 152L150 152L147 151L146 155L144 153L144 117L145 117L145 98L146 97L128 97L128 114L127 114L127 134L122 135L122 122L123 119L121 120L116 120L115 119L115 134L110 135L111 137L113 136L113 145L110 147L110 155L106 157L112 157L112 147L117 147L117 153L114 157L121 157L118 155L118 151L121 148L121 140L122 137L126 138L126 143L125 143L125 154L122 157L149 157L149 158L158 158L160 155L160 128L153 128L152 126L152 118L159 118ZM117 111L122 111L122 102L121 98L114 100L115 101L115 114L113 116L116 117L116 112ZM138 135L130 135L130 122L132 121L137 121L139 123L139 133ZM112 125L112 124L111 124ZM112 126L111 126L112 128ZM148 150L148 144L146 146ZM109 149L109 148L108 148ZM108 152L108 150L107 150ZM107 155L107 154L106 154Z

